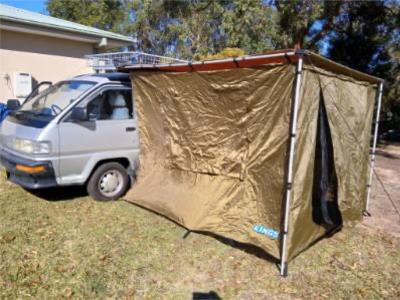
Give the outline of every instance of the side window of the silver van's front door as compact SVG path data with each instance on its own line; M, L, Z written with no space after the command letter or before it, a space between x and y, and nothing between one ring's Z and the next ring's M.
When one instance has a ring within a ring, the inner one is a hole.
M106 90L87 105L87 112L95 120L127 120L133 118L130 90Z

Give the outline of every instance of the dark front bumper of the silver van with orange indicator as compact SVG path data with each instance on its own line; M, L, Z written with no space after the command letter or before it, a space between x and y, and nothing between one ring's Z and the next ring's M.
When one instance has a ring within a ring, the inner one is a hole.
M54 175L53 165L50 161L35 161L26 159L0 149L0 164L9 173L10 181L27 189L40 189L54 187L57 181ZM27 173L17 170L17 165L27 167L44 166L40 173Z

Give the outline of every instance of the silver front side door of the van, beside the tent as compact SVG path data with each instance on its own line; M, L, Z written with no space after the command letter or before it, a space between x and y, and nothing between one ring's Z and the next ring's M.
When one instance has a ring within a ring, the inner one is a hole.
M100 160L137 159L139 138L131 88L103 87L78 107L86 107L89 120L67 116L59 124L60 184L82 184Z

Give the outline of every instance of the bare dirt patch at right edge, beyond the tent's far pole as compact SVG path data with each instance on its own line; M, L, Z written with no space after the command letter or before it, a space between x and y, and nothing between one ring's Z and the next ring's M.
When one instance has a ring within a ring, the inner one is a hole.
M369 209L372 216L365 218L363 224L400 237L400 216L394 207L400 210L399 144L377 149L375 171Z

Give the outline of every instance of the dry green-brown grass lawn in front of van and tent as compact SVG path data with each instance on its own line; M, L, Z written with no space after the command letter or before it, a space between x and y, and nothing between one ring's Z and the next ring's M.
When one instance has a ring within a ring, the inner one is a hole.
M1 177L1 299L400 298L400 240L362 225L301 254L283 279L269 261L209 236L183 239L125 201L58 192L70 198L44 200Z

